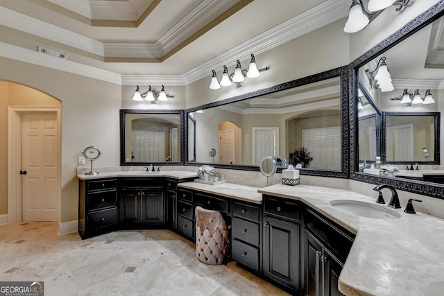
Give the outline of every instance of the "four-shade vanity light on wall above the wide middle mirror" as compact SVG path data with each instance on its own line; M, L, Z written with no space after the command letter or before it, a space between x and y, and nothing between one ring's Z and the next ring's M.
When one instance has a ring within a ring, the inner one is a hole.
M257 69L255 55L251 54L250 65L248 66L248 71L243 70L241 67L241 62L239 60L236 61L236 68L234 69L234 73L228 73L227 66L223 66L223 73L221 82L217 79L216 71L212 70L213 75L211 76L210 89L220 89L221 86L227 87L231 85L231 82L236 83L236 87L241 87L241 83L244 82L245 78L255 78L259 77L260 72L266 71L270 69L270 67L265 67L262 69Z

